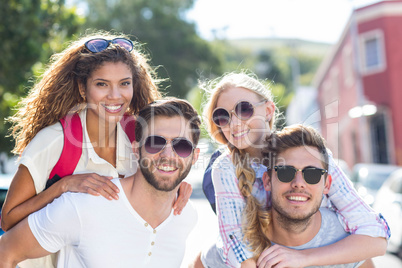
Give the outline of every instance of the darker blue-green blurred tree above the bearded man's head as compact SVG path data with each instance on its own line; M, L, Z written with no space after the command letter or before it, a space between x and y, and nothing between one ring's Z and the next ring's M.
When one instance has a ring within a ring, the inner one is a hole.
M152 65L160 66L169 95L186 97L200 73L220 73L221 62L184 12L193 0L87 0L85 28L115 30L145 44Z

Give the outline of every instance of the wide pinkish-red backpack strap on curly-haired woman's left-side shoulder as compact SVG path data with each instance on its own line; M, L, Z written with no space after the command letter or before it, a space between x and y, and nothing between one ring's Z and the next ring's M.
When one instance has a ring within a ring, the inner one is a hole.
M73 174L82 154L82 125L77 113L68 114L60 123L63 127L64 145L59 161L50 172L46 189L61 178Z

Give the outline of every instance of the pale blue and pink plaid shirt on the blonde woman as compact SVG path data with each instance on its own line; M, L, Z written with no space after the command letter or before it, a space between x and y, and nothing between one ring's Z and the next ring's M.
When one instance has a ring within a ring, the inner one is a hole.
M270 193L265 191L262 175L266 167L252 164L256 173L252 194L261 203L270 200ZM332 184L322 206L331 206L337 213L345 231L352 234L389 238L390 230L384 218L375 213L358 195L350 180L335 164L329 152L329 171ZM229 267L239 267L239 263L253 256L243 241L242 212L245 200L238 187L235 167L228 151L224 152L213 164L212 181L215 188L216 211L219 222L219 240L217 248L223 261ZM232 252L229 252L232 251ZM236 258L230 256L235 256Z

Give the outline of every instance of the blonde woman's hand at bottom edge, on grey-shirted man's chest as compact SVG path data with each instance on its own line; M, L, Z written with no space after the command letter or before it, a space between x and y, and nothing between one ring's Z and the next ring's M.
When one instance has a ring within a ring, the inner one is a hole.
M273 245L265 249L257 260L258 268L305 267L306 255L302 250Z

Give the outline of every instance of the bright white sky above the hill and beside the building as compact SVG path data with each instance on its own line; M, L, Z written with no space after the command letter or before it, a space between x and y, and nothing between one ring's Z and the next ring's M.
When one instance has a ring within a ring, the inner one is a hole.
M298 38L336 43L354 8L378 0L195 0L186 17L201 37Z

